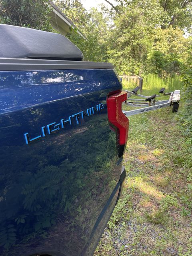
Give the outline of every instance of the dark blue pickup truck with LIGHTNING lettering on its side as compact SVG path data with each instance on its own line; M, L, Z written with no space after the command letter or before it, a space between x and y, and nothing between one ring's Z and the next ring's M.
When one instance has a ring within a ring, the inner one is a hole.
M127 94L60 34L0 25L0 255L91 256L122 192Z

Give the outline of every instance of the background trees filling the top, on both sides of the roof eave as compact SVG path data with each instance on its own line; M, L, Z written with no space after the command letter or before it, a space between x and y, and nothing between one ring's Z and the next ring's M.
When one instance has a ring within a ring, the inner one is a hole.
M86 10L83 0L55 0L72 20L67 37L88 61L112 62L119 73L180 74L192 32L192 0L110 0ZM0 0L0 22L51 31L49 0ZM186 36L187 33L187 36Z

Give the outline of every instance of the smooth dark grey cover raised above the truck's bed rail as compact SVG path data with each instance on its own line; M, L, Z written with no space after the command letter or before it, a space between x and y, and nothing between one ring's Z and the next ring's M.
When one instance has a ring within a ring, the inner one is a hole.
M83 54L60 34L0 24L0 57L81 61Z

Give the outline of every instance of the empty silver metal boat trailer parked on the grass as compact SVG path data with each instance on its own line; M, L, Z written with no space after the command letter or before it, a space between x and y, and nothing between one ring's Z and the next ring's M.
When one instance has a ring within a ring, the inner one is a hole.
M127 100L123 102L123 104L138 108L134 110L123 110L122 112L126 116L133 116L136 114L149 112L152 110L157 110L160 108L166 108L168 106L172 106L172 112L177 112L179 108L180 102L180 90L174 90L174 92L165 93L165 88L161 88L159 91L160 94L154 94L152 96L145 96L142 94L138 94L137 91L140 89L140 86L134 88L131 92L126 90L127 92ZM170 95L169 100L158 100L158 97ZM132 96L138 96L142 99L131 98ZM139 108L140 107L140 108Z

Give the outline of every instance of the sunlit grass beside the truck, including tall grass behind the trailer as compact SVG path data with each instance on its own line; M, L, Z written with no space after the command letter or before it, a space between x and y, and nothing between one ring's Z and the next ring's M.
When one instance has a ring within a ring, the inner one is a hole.
M167 82L150 75L143 92L180 89L178 78ZM94 256L192 256L191 153L178 116L164 108L129 118L124 192Z

